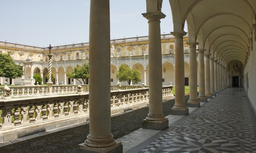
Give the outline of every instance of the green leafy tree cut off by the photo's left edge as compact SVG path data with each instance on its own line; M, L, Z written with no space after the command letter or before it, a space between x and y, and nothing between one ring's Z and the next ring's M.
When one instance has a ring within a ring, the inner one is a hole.
M18 78L23 76L23 65L15 64L10 53L0 53L0 77Z

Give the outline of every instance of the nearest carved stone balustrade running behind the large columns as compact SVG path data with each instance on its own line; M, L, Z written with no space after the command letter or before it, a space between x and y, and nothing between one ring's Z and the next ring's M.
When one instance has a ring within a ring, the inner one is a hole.
M58 86L57 86L58 87ZM76 88L70 86L72 91ZM149 101L149 88L111 91L111 109ZM163 98L172 86L163 86ZM172 95L173 96L173 95ZM89 93L0 99L0 131L89 113ZM89 114L88 114L89 116Z

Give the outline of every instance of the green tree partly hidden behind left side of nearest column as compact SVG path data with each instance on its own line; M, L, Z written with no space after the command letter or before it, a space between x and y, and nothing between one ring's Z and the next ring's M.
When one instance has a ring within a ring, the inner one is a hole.
M88 84L89 79L89 63L83 62L81 67L77 64L74 70L68 71L66 76L77 79L81 84ZM83 83L79 80L82 79Z

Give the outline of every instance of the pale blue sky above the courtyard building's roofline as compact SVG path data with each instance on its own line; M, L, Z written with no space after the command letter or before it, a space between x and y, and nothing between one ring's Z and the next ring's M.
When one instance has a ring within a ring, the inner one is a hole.
M89 42L90 0L0 0L0 41L47 47ZM161 34L173 31L163 0ZM110 38L148 35L146 0L110 0Z

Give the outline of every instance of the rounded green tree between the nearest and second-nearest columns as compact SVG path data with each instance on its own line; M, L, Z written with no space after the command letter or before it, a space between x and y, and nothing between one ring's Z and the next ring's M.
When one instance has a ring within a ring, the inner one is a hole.
M117 79L119 81L127 81L130 85L130 82L138 83L141 81L141 73L138 69L131 70L127 65L121 65L117 73Z

